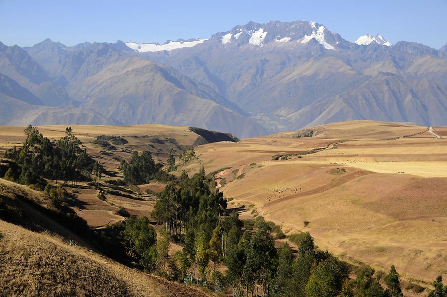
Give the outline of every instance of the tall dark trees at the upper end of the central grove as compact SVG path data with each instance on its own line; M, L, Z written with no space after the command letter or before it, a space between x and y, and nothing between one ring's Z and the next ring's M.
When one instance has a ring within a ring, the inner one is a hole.
M175 183L169 183L158 195L152 217L173 240L184 242L185 261L203 275L210 257L222 246L219 226L225 210L223 194L208 182L202 169L191 178L182 172Z

